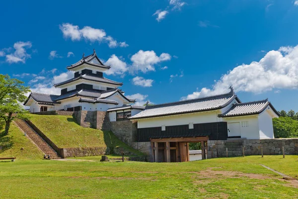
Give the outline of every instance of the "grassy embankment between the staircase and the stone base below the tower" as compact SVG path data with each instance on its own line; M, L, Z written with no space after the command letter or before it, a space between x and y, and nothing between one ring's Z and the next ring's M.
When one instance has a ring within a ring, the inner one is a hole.
M120 147L135 155L144 155L123 143L110 131L81 127L73 116L30 114L30 121L60 148L106 146L113 152L117 151L113 149Z

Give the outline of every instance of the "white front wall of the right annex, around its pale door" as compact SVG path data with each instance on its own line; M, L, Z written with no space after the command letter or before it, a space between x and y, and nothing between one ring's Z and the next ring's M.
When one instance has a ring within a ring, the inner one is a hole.
M227 123L239 122L241 138L260 139L258 115L223 117ZM241 122L248 122L248 126L242 126Z

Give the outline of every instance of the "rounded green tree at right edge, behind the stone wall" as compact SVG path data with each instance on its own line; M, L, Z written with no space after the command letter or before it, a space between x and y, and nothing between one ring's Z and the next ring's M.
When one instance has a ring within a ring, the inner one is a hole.
M298 137L298 121L291 117L273 118L275 138Z

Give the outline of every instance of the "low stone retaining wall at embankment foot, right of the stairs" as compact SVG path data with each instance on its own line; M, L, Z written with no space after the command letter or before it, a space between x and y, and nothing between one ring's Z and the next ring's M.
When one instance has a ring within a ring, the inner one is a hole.
M105 155L106 147L63 148L63 158Z

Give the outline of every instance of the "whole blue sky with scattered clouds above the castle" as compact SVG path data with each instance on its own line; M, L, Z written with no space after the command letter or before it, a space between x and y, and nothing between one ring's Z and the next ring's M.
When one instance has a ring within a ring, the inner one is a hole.
M126 95L163 103L221 94L298 111L297 0L5 1L0 69L57 91L82 53ZM68 56L69 54L69 56ZM59 92L58 92L59 93Z

